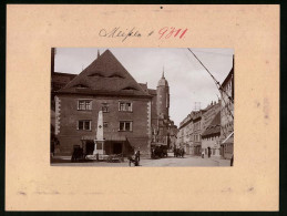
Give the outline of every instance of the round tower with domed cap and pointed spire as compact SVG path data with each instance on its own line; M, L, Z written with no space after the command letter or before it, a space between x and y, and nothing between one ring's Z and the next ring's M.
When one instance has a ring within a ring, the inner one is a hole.
M156 88L157 101L156 113L161 119L170 119L170 86L167 80L164 78L164 70L162 79L157 83Z

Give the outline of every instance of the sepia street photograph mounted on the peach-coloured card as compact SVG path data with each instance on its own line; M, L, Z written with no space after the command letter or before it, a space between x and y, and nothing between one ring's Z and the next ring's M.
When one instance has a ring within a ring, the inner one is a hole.
M52 48L52 166L233 166L234 50Z

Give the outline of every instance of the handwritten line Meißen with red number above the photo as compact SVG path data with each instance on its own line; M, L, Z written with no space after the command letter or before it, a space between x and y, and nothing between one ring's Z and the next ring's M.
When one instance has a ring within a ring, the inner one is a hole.
M100 37L105 38L120 38L124 42L127 38L142 38L142 37L158 37L158 40L163 39L183 39L188 29L176 29L174 27L164 27L160 30L150 30L147 32L141 32L139 29L122 29L120 27L112 30L101 29L99 31Z

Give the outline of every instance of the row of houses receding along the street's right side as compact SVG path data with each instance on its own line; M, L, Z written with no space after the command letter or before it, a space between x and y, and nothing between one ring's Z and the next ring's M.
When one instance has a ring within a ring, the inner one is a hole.
M232 158L234 153L234 66L221 84L221 99L192 111L180 124L176 145L191 155Z

